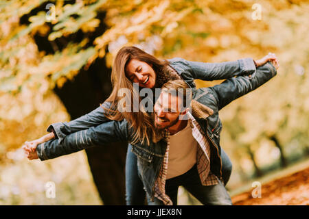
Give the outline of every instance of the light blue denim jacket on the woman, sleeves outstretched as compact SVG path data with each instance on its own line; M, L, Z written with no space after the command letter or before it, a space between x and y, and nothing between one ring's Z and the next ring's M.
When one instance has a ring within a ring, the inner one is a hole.
M168 61L190 88L196 88L194 79L212 81L238 75L253 75L256 69L252 58L221 63L190 62L180 57ZM107 107L107 103L103 103L103 105ZM76 118L69 123L53 123L49 125L47 131L54 131L56 138L61 142L70 133L89 129L89 127L100 125L106 121L108 121L108 118L104 116L104 110L102 107L98 107L89 114Z

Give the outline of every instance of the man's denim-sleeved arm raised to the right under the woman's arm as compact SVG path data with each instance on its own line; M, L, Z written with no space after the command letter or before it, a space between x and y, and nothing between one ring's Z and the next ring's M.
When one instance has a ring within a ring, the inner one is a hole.
M231 101L262 86L262 84L275 77L275 75L277 75L275 66L271 62L267 62L264 66L258 67L252 77L233 77L209 89L214 91L220 110L231 103Z

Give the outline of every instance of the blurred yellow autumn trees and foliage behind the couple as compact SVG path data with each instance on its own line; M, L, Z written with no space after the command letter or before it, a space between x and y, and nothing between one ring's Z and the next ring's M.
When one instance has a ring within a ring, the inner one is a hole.
M308 168L308 11L305 0L1 1L0 205L125 204L126 144L46 162L21 150L51 123L104 102L113 57L125 45L198 62L275 53L277 76L220 112L221 146L233 162L227 189L233 196ZM179 196L181 205L199 204L183 188Z

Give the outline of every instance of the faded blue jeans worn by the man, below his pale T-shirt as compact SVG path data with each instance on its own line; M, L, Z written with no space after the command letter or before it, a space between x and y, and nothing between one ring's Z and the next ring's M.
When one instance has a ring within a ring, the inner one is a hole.
M202 185L198 175L196 164L183 175L168 179L165 182L165 193L170 196L173 205L177 205L178 188L182 185L188 192L198 199L203 205L231 205L231 198L225 189L225 185L218 180L217 185ZM147 195L148 205L163 205L158 198L150 201Z

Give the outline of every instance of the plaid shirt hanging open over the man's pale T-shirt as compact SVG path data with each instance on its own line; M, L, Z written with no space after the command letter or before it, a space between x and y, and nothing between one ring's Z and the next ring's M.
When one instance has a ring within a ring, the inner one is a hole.
M200 176L202 185L216 185L218 184L218 178L210 171L210 146L209 140L202 134L201 126L195 120L195 118L187 113L189 116L188 123L191 123L192 135L198 142L198 149L196 151L196 163L198 169L198 175ZM163 158L163 165L161 166L159 177L155 182L155 197L163 201L164 205L172 205L170 197L165 194L165 181L168 172L168 154L170 151L170 132L165 129L164 138L168 143Z

